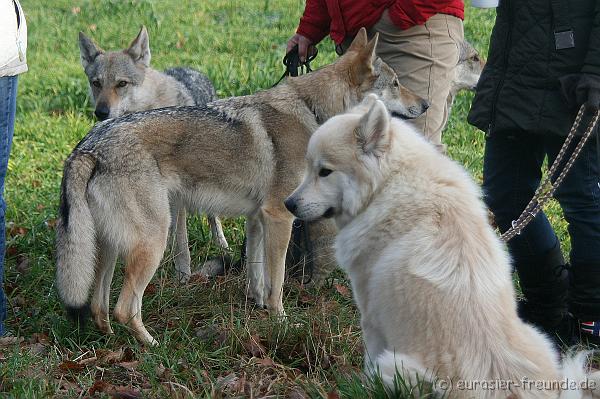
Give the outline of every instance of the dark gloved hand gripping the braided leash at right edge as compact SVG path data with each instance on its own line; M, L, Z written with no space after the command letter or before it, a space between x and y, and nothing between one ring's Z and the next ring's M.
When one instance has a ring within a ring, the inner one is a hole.
M600 109L600 75L576 73L560 78L560 85L569 105L585 107L590 111Z

